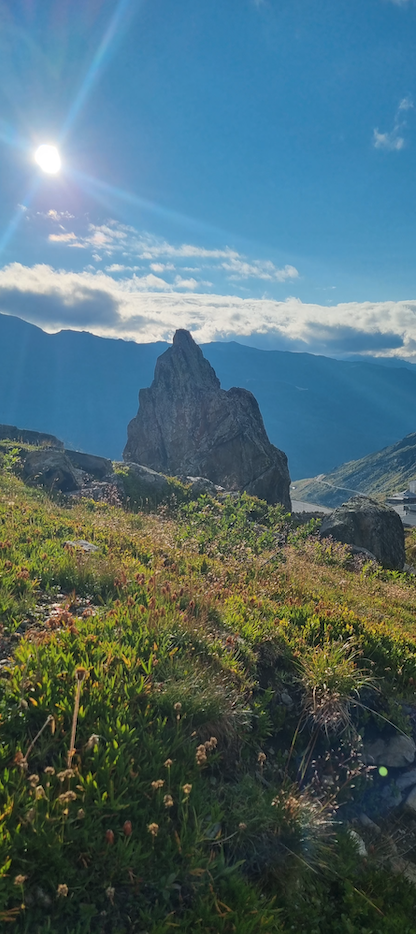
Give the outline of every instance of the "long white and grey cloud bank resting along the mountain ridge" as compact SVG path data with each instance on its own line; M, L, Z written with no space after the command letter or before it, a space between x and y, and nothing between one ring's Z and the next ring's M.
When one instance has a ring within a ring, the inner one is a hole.
M193 283L192 283L193 285ZM114 278L12 263L0 269L0 311L46 330L87 328L102 337L170 340L176 328L200 342L241 340L309 353L380 353L416 362L416 299L333 305L175 292L154 274Z

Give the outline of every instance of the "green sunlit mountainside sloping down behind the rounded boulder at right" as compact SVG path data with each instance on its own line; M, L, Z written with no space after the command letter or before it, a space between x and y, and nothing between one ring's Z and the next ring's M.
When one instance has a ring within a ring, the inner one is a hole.
M411 480L416 480L416 432L382 451L342 464L331 473L297 481L292 496L335 507L356 492L368 496L381 494L384 498L405 490Z

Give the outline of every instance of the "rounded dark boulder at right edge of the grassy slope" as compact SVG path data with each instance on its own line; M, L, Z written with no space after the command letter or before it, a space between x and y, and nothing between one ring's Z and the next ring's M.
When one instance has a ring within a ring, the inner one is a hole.
M404 529L400 516L389 506L367 496L354 496L324 519L321 538L331 535L345 545L370 551L390 570L402 570L405 563Z

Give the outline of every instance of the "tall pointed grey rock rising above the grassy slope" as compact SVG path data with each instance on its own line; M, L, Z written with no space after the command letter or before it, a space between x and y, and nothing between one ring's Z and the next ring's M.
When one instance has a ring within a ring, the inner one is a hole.
M221 389L188 331L176 331L150 389L140 390L123 457L290 509L287 458L270 443L256 399L246 389Z

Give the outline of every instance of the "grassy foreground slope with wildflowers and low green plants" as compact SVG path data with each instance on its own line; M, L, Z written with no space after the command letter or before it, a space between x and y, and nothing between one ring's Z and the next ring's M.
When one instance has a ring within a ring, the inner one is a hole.
M77 538L98 551L64 547ZM11 930L414 934L414 889L382 853L360 864L333 824L332 792L364 781L351 744L322 736L300 787L315 728L297 731L302 664L351 637L357 670L378 679L370 703L406 729L395 699L415 696L412 579L352 565L248 497L128 514L58 505L10 470L0 545Z

